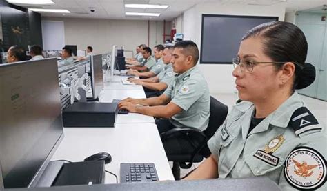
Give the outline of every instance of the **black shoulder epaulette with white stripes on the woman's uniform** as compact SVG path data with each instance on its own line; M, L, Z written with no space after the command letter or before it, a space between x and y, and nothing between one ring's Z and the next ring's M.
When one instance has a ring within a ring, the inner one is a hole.
M301 107L295 110L288 125L293 128L297 136L310 130L322 129L315 116L313 116L313 114L306 107Z

